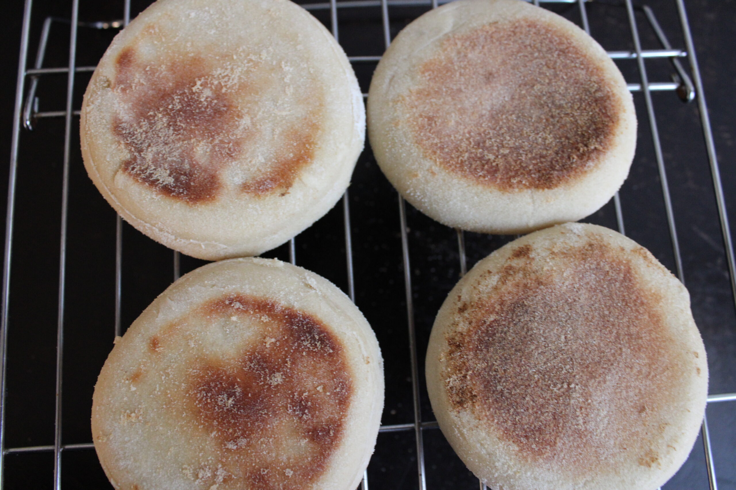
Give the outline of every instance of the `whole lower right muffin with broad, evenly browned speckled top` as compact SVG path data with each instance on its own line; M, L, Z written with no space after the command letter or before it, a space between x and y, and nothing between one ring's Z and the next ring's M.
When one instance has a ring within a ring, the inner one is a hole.
M645 248L568 223L478 262L437 314L439 427L496 490L654 490L698 436L705 350L682 284Z

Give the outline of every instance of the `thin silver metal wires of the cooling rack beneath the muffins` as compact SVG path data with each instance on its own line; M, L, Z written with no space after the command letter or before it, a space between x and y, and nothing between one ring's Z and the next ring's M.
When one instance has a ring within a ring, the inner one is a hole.
M528 0L527 0L528 1ZM540 0L533 0L534 4L539 4ZM590 24L587 18L586 1L591 0L541 0L542 3L567 3L577 4L581 26L590 34ZM15 112L13 113L13 140L10 158L10 174L9 187L7 196L7 220L5 231L5 249L4 249L4 269L2 276L2 299L1 299L1 325L0 325L0 356L2 363L0 365L0 488L4 483L4 458L6 455L21 453L53 453L54 455L54 489L61 488L62 474L62 458L61 455L65 451L71 450L91 450L92 443L85 444L63 444L62 441L62 394L63 394L63 342L64 342L64 326L65 326L65 299L66 299L66 253L68 242L68 192L69 192L69 165L70 155L75 142L72 141L72 126L74 117L79 115L79 111L73 107L75 76L77 73L91 72L93 66L77 66L77 31L79 27L89 27L93 29L117 29L125 26L130 21L130 0L122 0L123 19L121 21L99 21L94 23L79 22L79 0L71 0L71 18L46 18L40 33L38 44L38 53L35 58L33 68L26 68L26 58L29 51L29 35L32 18L32 0L26 0L24 6L24 20L21 32L21 51L18 62L18 78L17 91L15 94ZM391 43L390 17L389 7L437 7L438 4L445 4L447 0L348 0L302 4L306 10L319 11L328 10L330 12L330 28L339 40L339 21L338 10L361 9L365 7L380 7L381 21L383 26L383 41L388 47ZM673 91L684 101L696 100L698 111L701 118L701 126L703 136L707 148L707 154L710 164L712 186L715 192L715 198L718 206L718 217L721 225L721 233L723 237L723 245L726 253L727 268L729 272L729 281L731 284L732 295L736 305L736 261L734 256L731 234L729 231L729 222L726 215L726 204L723 196L723 186L721 184L721 173L718 168L718 159L715 154L715 144L713 141L710 120L708 117L707 104L705 101L703 82L698 69L698 61L696 59L696 51L693 46L693 37L690 32L690 25L687 19L687 12L684 7L684 0L676 0L676 6L679 15L679 21L682 26L682 35L684 38L685 48L673 48L664 31L659 26L654 12L647 6L637 7L643 11L651 29L657 35L662 48L644 50L640 42L640 30L637 26L637 19L634 15L635 7L632 0L625 0L624 6L628 16L629 26L631 29L631 40L633 41L634 50L632 51L609 51L612 59L629 59L637 62L638 73L640 79L638 82L630 82L628 84L631 92L641 92L645 98L646 120L651 130L652 144L654 145L654 153L657 160L657 169L659 179L662 186L662 198L665 205L668 229L670 232L671 247L675 259L676 275L684 283L684 273L682 267L682 256L679 247L678 234L676 230L676 219L673 212L672 199L670 198L670 190L668 186L668 178L665 170L665 157L662 153L662 145L659 140L659 130L657 128L657 118L654 112L654 104L651 98L651 92L654 91ZM43 68L43 61L46 53L49 32L54 22L63 22L69 25L70 42L68 47L68 66L63 68ZM664 58L672 62L675 75L673 82L649 82L645 66L646 59ZM377 62L379 56L358 56L349 57L353 63ZM690 65L690 74L683 67L681 60L687 60ZM67 89L66 89L66 109L63 111L46 111L38 110L38 98L36 93L38 90L38 80L40 76L52 73L66 73ZM28 90L26 93L26 84ZM364 94L366 96L366 94ZM24 103L25 100L25 103ZM64 118L64 151L63 151L63 177L62 177L62 203L61 203L61 233L60 233L60 264L59 264L59 289L57 298L57 359L56 359L56 406L54 420L54 444L44 446L29 447L6 447L5 444L5 406L6 406L6 376L7 376L7 333L9 328L9 303L10 303L10 287L11 287L11 259L13 256L13 230L15 219L15 187L16 175L18 170L19 141L22 126L26 129L32 129L43 118ZM640 119L644 119L640 115ZM621 202L618 194L615 196L615 215L618 228L624 233L626 228L623 223L623 213L621 211ZM398 196L398 214L400 223L400 241L401 241L401 264L403 267L404 290L406 293L406 325L408 328L409 354L411 358L411 390L413 402L413 422L407 422L394 425L382 425L381 433L392 433L400 431L413 431L414 444L416 447L416 464L417 464L417 486L420 490L427 488L427 478L425 471L425 451L422 434L425 430L437 428L437 423L426 421L422 418L420 403L420 370L419 361L417 359L417 336L414 325L414 305L412 295L412 269L411 254L408 239L408 224L406 204L403 198ZM353 229L350 223L350 201L348 192L342 198L343 223L344 223L344 248L346 253L346 275L347 275L347 293L350 298L355 301L355 273L353 270ZM115 264L115 323L114 333L116 336L121 335L123 330L121 325L121 290L123 275L123 225L119 216L116 217L116 264ZM465 250L464 232L457 230L457 248L459 256L459 270L461 274L467 271L467 256ZM297 247L295 239L289 242L289 260L291 263L297 262ZM173 270L174 280L180 276L180 254L173 253ZM708 403L721 403L736 401L736 393L711 394L708 397ZM710 433L708 430L707 419L704 419L701 436L704 447L705 461L707 464L707 476L711 490L718 488L715 466L713 463L713 455L710 444ZM483 483L479 483L480 489L486 487ZM363 490L368 490L367 472L361 483Z

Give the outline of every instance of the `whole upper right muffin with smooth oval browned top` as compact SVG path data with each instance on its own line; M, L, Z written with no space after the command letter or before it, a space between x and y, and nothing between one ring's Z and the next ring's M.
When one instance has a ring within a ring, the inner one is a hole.
M636 143L631 94L574 24L517 0L459 0L406 26L368 97L378 165L447 226L515 234L609 201Z

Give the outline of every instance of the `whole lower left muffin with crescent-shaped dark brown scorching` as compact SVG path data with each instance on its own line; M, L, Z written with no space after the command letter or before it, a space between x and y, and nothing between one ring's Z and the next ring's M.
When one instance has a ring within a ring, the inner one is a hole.
M231 259L180 278L117 339L92 435L116 489L354 490L382 408L378 342L347 296Z

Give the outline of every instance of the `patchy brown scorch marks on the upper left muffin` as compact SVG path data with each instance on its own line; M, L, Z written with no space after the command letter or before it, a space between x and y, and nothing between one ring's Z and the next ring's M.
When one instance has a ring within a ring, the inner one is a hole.
M270 135L274 150L268 161L243 162L247 148L266 139L258 104L262 87L277 73L223 71L199 56L149 63L134 47L118 54L116 68L113 90L121 109L113 131L130 154L122 168L163 195L190 204L214 202L226 191L223 174L237 165L255 166L240 192L285 195L314 159L323 106L319 91L304 101L307 117Z

